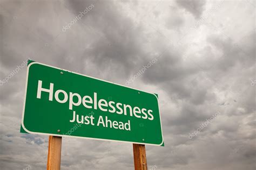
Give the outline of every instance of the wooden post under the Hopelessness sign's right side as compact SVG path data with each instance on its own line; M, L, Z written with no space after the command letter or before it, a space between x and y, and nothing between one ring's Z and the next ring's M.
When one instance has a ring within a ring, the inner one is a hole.
M145 145L133 144L133 159L135 170L147 170Z

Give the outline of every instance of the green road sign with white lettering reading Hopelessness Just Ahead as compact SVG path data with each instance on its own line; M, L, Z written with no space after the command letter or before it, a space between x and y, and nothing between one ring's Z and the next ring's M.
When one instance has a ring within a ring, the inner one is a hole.
M22 128L52 136L164 142L157 95L32 61Z

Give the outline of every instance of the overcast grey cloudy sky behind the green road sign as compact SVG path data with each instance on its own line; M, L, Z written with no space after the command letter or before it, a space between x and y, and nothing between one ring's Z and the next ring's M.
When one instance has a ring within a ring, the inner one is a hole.
M0 2L0 169L46 169L48 136L19 133L28 58L123 85L156 58L128 85L159 95L148 168L256 168L255 1ZM132 145L65 138L61 168L133 169Z

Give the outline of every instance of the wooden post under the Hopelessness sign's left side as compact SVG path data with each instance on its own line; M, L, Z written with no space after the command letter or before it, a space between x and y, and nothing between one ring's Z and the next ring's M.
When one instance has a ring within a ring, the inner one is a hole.
M62 137L49 136L47 170L59 170L62 153Z

